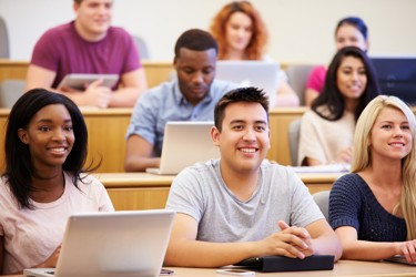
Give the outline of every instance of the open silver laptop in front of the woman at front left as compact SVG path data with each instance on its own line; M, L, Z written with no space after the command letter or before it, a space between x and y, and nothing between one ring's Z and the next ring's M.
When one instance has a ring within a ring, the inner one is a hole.
M159 276L175 212L101 212L68 219L57 268L24 269L27 276Z

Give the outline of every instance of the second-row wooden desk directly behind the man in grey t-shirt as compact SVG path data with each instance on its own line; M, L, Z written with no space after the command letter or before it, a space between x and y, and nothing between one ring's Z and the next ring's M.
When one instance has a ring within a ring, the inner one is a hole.
M342 173L298 173L302 181L316 193L328 191ZM98 173L116 211L164 208L174 175L149 173Z

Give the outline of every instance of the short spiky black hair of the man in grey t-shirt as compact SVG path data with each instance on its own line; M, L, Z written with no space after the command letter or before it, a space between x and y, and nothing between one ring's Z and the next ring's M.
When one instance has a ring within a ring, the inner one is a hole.
M231 103L236 102L247 102L247 103L258 103L263 106L264 111L267 114L267 122L268 122L268 96L266 93L257 88L247 86L247 88L239 88L222 96L215 105L214 109L214 123L215 127L221 132L222 123L225 116L225 107Z

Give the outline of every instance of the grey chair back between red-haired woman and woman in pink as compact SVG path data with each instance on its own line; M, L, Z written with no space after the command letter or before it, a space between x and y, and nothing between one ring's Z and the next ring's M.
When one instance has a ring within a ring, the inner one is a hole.
M297 93L301 105L305 105L305 89L307 79L316 64L292 64L286 69L288 83Z

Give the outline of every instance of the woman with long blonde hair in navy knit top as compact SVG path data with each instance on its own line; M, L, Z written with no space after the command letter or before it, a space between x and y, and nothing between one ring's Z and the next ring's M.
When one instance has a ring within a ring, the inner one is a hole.
M359 116L352 173L329 195L343 258L416 261L415 137L415 115L395 96L374 99Z

